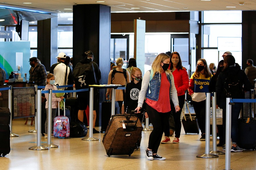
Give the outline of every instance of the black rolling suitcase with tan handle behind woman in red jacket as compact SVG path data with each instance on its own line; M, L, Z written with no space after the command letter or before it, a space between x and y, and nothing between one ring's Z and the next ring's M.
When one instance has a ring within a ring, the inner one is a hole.
M185 102L187 104L187 100ZM187 104L187 109L189 111L188 104ZM190 111L189 111L189 114L184 114L183 112L182 125L186 134L187 133L199 134L199 125L197 122L197 117L195 114L191 114Z

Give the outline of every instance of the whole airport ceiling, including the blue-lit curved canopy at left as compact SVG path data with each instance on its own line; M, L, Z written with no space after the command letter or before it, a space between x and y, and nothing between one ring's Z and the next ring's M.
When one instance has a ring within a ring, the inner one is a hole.
M256 10L256 0L0 0L0 26L52 18L79 4L108 5L111 12Z

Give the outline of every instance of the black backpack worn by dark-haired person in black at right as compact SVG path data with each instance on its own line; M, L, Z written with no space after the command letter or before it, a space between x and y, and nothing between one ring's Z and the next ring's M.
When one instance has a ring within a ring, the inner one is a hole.
M226 90L226 96L232 99L240 99L243 97L243 84L238 79L237 74L230 75L226 77L224 89Z

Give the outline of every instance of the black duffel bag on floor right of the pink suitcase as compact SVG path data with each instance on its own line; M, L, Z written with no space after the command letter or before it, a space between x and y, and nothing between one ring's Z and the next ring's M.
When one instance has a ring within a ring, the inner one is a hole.
M88 129L83 122L71 122L69 137L84 137L87 135L87 131Z

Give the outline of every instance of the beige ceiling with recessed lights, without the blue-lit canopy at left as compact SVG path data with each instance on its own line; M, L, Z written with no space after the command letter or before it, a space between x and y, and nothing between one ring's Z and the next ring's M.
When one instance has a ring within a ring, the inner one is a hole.
M256 0L0 0L0 6L20 6L48 12L73 12L73 5L102 4L112 12L256 10ZM28 4L29 3L29 4ZM132 9L133 8L133 9ZM135 9L134 9L135 8Z

